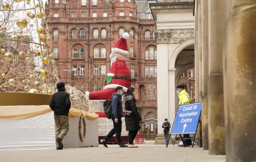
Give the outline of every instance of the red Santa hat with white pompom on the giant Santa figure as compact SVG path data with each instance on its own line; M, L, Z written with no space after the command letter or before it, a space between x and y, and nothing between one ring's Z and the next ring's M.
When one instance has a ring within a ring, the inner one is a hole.
M116 44L114 45L114 47L112 48L112 53L110 54L110 59L115 57L115 52L122 54L124 56L128 56L129 52L128 52L128 47L127 47L127 42L126 39L129 38L129 34L128 33L124 33L122 35L122 38L120 38Z

